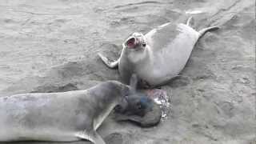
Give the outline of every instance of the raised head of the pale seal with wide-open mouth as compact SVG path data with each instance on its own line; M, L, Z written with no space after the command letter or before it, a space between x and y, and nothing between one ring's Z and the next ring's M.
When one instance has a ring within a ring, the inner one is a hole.
M122 44L124 48L128 50L145 50L146 39L142 33L131 34L129 38Z

